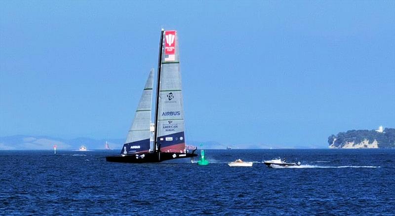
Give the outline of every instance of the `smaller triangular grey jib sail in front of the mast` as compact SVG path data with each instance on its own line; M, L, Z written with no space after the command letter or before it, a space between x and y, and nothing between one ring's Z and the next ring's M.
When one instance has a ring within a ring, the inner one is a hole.
M150 149L150 123L154 69L151 69L143 94L134 115L134 120L127 134L121 154L148 152Z

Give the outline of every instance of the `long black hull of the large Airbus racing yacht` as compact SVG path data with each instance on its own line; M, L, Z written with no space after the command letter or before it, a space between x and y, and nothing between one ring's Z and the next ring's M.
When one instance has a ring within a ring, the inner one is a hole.
M144 156L143 156L144 155ZM195 153L174 153L174 152L156 152L156 153L139 153L139 154L120 154L107 156L106 161L118 163L159 163L165 160L179 158L192 158L197 156Z

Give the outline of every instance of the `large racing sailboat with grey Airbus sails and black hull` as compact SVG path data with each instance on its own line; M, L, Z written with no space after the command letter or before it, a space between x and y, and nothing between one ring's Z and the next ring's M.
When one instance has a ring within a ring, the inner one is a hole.
M197 156L197 148L190 152L185 145L177 31L161 30L157 77L154 141L150 142L154 87L154 69L151 69L121 152L119 155L107 156L107 161L157 163Z

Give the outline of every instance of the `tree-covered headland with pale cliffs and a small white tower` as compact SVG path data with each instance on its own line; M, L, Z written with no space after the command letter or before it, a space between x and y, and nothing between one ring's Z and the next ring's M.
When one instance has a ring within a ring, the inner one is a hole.
M351 130L328 137L329 148L395 148L395 129Z

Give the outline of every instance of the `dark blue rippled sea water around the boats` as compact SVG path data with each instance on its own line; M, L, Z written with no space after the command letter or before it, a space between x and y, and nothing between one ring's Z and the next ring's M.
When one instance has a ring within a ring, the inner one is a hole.
M208 166L117 151L0 151L0 215L394 215L395 149L206 150ZM286 157L298 168L267 168ZM229 167L241 158L253 167Z

